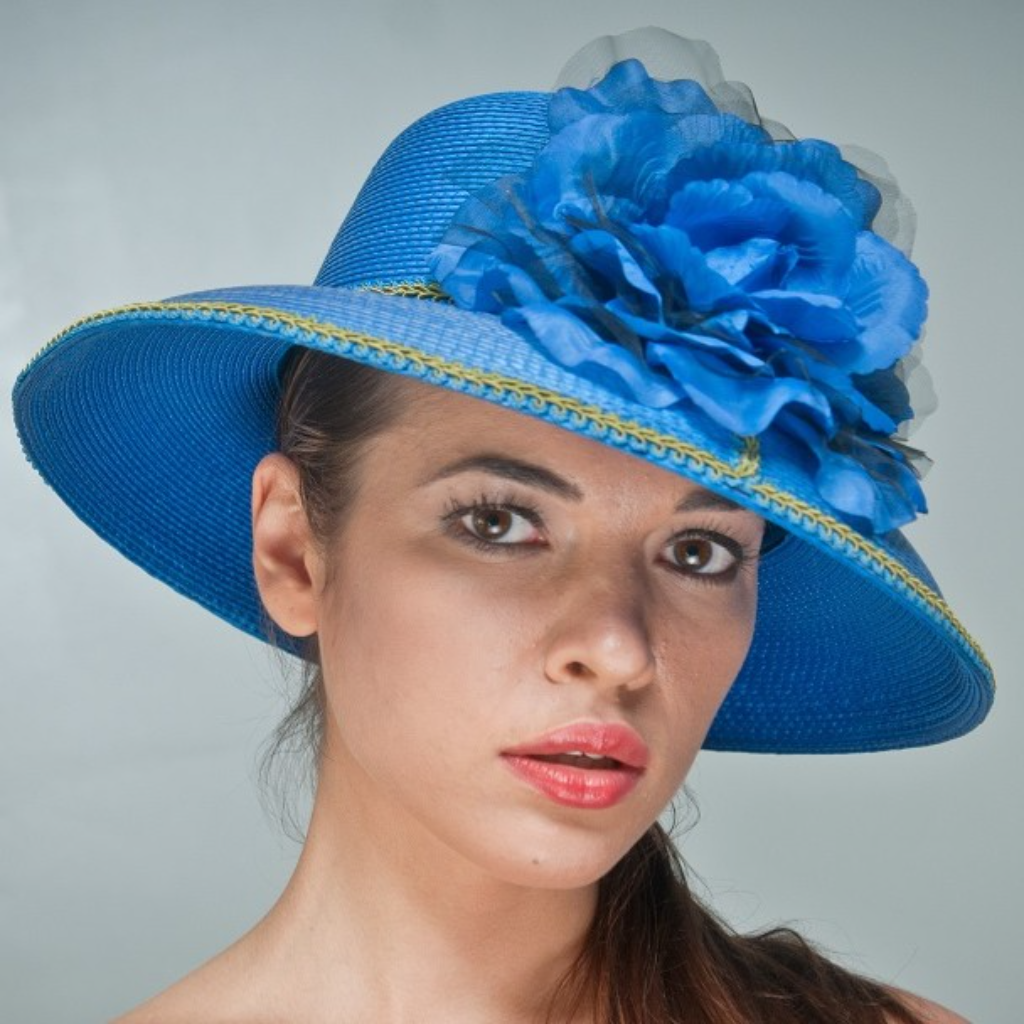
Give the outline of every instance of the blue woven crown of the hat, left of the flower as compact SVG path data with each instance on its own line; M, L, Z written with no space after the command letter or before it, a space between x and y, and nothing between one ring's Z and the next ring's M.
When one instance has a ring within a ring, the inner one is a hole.
M424 115L384 151L314 285L432 280L428 257L474 191L528 167L549 138L543 92L471 96Z

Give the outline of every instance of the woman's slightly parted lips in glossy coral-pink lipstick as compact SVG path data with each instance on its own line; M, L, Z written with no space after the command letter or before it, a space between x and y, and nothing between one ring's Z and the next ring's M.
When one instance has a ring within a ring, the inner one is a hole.
M577 722L502 752L509 768L567 807L600 809L624 800L647 767L647 746L629 726Z

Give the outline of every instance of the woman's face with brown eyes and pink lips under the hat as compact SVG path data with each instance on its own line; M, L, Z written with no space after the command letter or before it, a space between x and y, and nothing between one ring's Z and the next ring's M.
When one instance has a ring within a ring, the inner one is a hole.
M361 808L344 813L392 839L517 884L592 883L671 801L739 671L763 520L597 441L408 387L317 599L325 771Z

